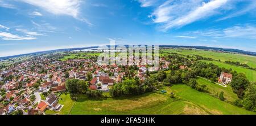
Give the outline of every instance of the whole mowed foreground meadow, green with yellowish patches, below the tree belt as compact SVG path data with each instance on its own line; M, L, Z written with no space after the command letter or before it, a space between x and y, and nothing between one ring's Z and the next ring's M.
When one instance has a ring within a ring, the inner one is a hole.
M64 107L57 114L255 114L187 85L178 84L163 89L167 93L154 92L118 98L88 98L80 95L76 102L71 100L69 94L62 94L61 98L65 102L60 100L60 103ZM176 98L170 98L171 92L175 92Z

